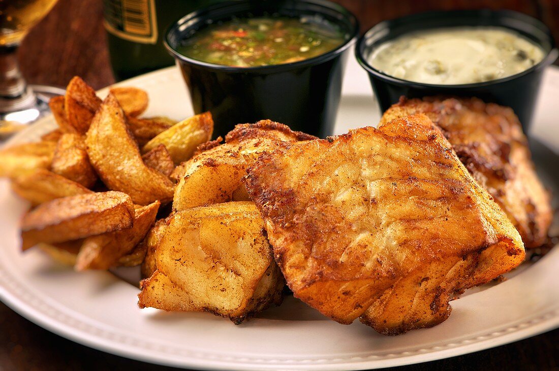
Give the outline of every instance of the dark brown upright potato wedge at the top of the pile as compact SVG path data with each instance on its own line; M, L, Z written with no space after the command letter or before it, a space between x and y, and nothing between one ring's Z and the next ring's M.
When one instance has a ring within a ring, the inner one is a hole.
M66 87L64 110L68 125L74 132L85 134L93 119L95 111L100 107L101 99L95 90L78 76L74 76Z

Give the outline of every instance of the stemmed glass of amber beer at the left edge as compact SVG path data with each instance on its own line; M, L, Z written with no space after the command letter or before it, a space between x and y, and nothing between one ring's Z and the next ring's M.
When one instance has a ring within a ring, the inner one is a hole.
M53 86L27 85L17 62L17 48L57 0L0 0L0 139L48 112Z

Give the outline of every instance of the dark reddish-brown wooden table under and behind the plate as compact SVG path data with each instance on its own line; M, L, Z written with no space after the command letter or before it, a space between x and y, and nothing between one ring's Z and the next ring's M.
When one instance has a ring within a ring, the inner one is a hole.
M338 0L366 30L378 21L427 9L512 8L544 21L559 40L559 1L521 0ZM94 88L114 82L101 0L60 0L28 35L20 49L30 83L64 86L74 75ZM10 370L172 370L87 348L23 319L0 302L0 371ZM533 338L435 362L393 370L559 370L559 329Z

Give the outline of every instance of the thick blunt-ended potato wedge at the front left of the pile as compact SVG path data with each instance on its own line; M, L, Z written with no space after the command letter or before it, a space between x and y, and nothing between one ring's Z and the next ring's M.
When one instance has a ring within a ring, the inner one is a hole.
M134 204L122 192L63 197L37 206L21 220L22 249L132 228Z

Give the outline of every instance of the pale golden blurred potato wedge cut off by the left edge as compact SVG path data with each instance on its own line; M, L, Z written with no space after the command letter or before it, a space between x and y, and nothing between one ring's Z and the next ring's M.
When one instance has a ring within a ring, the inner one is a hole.
M15 179L38 168L49 168L55 147L55 142L34 142L4 148L0 151L0 177Z

